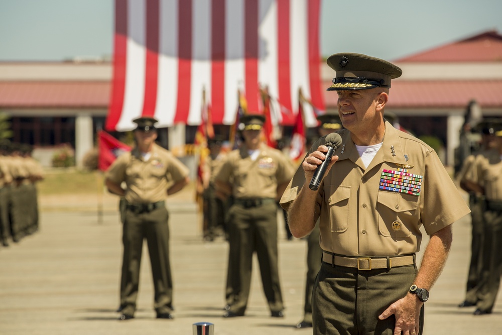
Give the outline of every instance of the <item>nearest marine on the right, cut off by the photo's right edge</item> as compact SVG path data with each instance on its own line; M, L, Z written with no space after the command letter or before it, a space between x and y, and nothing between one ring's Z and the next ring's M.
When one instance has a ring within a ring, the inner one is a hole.
M490 314L500 287L502 275L502 124L493 125L496 146L483 155L476 156L474 168L477 193L484 195L483 246L481 278L476 292L474 315Z

